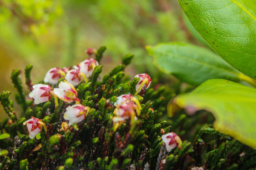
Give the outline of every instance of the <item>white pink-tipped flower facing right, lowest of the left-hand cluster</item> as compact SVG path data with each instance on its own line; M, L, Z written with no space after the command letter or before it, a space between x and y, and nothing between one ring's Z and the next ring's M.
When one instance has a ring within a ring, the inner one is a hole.
M90 107L88 106L84 106L82 104L74 104L66 109L64 113L64 119L69 120L68 125L71 126L74 123L81 122L83 119L85 119L89 110Z

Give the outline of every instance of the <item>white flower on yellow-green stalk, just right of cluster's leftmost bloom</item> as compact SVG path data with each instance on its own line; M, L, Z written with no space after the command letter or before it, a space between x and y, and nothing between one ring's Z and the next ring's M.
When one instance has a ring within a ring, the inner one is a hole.
M53 93L64 102L79 101L77 91L74 86L68 82L60 82L59 88L54 88Z

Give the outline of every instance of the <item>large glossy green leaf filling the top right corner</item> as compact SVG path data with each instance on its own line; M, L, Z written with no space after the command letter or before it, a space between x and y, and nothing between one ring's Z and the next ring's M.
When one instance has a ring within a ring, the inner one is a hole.
M256 79L256 1L178 0L203 39L231 66Z

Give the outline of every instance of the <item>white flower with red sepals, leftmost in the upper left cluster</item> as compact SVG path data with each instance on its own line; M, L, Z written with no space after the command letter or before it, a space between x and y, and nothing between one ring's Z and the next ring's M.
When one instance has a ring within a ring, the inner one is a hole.
M34 98L35 104L47 102L52 98L52 87L50 85L37 84L33 85L33 91L28 94L30 98Z

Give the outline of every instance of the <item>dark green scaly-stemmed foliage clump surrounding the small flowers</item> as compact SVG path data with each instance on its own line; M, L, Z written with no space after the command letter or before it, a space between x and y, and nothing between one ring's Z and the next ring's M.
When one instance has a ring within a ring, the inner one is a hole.
M96 52L99 62L104 51L102 47ZM141 104L137 120L132 123L127 119L115 128L113 112L117 97L134 95L139 81L138 78L131 82L122 80L123 70L132 57L124 56L122 64L102 80L102 65L96 66L88 82L76 86L79 100L91 109L83 121L66 129L62 127L66 122L64 112L73 103L59 100L55 108L53 98L37 105L26 101L20 71L13 70L11 78L18 91L16 101L23 114L19 119L16 117L13 102L8 98L10 92L3 92L0 101L9 118L0 123L0 170L185 170L189 167L248 170L256 166L256 151L213 129L210 125L213 117L205 111L189 116L182 110L173 119L160 121L174 92L165 86L157 88L154 81L145 94L135 96ZM31 69L31 65L25 69L30 91ZM42 128L40 135L32 139L23 126L31 117L42 119L46 125L46 130ZM181 136L183 144L167 153L161 136L172 131Z

